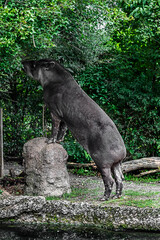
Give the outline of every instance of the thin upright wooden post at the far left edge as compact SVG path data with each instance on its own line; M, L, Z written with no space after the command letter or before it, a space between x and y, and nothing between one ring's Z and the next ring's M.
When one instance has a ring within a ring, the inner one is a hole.
M0 108L0 177L3 177L3 110Z

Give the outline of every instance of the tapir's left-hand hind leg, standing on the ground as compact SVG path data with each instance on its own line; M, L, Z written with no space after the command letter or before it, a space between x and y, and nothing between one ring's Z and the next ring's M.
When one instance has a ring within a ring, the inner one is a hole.
M109 167L99 169L99 170L101 172L102 179L103 179L104 186L105 186L104 197L101 200L105 201L105 200L108 200L111 195L114 180L112 178L111 169Z

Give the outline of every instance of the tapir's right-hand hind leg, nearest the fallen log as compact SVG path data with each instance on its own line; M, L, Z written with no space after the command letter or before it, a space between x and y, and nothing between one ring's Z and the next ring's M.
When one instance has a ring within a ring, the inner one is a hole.
M113 196L113 198L120 198L122 195L122 189L123 189L122 181L124 180L120 162L112 166L112 172L116 182L116 195Z

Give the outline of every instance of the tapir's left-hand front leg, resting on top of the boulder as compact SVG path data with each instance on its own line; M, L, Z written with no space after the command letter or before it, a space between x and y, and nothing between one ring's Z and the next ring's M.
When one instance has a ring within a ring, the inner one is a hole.
M51 113L52 118L52 137L48 140L48 143L55 143L57 141L57 135L59 132L59 125L61 120Z

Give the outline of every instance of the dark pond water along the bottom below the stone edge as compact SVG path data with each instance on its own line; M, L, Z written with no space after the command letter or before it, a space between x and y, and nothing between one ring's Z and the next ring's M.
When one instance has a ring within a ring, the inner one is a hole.
M160 240L160 233L114 232L100 228L0 225L0 240Z

